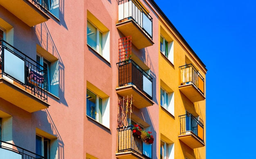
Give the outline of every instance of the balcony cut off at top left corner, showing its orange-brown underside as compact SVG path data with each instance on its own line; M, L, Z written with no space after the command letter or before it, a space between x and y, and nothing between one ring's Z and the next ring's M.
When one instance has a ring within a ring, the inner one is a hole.
M50 18L45 0L0 0L0 5L30 27Z

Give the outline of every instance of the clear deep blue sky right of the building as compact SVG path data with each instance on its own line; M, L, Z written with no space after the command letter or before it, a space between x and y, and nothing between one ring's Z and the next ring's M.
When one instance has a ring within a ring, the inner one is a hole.
M207 66L207 159L256 158L256 1L155 2Z

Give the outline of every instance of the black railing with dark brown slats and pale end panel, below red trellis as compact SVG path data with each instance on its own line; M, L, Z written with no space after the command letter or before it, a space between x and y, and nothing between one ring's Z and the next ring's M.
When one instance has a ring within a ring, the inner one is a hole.
M132 59L117 63L119 70L119 87L132 84L150 99L153 99L153 78L150 77Z

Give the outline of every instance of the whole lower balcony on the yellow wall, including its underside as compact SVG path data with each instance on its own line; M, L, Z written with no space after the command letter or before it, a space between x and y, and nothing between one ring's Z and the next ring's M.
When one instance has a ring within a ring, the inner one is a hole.
M190 148L199 148L204 144L204 125L192 114L180 115L179 139Z

